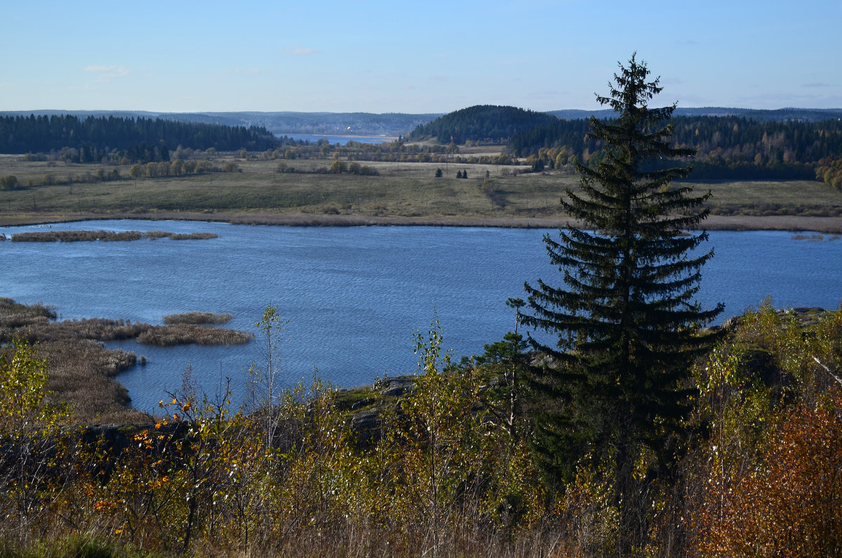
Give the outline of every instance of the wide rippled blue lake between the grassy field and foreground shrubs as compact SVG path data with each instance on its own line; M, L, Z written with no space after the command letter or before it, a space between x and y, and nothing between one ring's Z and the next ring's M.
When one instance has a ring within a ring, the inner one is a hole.
M0 228L0 233L48 225ZM0 242L0 296L56 307L61 319L163 323L165 314L229 312L226 327L254 331L267 304L290 319L280 346L288 384L322 378L351 387L383 373L412 373L413 335L438 319L456 358L482 352L514 328L509 297L525 281L558 284L541 242L557 231L509 228L284 228L226 223L95 221L56 229L210 232L217 239L134 242ZM716 255L698 299L726 304L723 319L756 307L835 309L842 299L842 240L793 233L711 232ZM156 348L111 344L148 359L118 378L134 405L153 410L190 364L213 393L222 378L242 389L248 346Z

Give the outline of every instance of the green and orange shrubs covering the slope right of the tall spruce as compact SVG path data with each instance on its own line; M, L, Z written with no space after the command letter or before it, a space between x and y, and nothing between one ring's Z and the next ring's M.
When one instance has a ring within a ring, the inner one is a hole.
M700 371L706 440L685 462L695 554L842 554L840 314L804 324L766 304Z

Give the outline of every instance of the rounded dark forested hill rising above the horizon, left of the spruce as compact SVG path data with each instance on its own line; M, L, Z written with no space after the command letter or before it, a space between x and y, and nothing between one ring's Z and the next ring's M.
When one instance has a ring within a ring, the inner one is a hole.
M518 109L513 106L476 105L440 116L429 124L415 128L408 139L434 137L441 143L472 142L505 143L514 134L556 122L546 112Z

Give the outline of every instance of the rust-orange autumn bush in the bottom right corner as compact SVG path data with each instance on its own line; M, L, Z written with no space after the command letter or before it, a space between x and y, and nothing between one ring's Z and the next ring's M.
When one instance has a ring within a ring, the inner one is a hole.
M703 555L842 554L842 392L781 418L756 464L701 516Z

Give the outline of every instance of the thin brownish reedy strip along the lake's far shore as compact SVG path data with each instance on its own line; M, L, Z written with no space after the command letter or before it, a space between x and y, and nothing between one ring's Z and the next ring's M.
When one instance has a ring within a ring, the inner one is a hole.
M316 213L277 214L268 212L114 212L81 214L26 214L4 216L0 227L48 223L72 223L104 219L137 221L206 221L245 225L283 227L493 227L493 228L564 228L572 219L559 217L384 217L366 215L331 215ZM842 218L798 215L711 215L703 222L705 230L759 231L778 230L842 234Z

